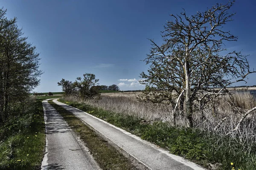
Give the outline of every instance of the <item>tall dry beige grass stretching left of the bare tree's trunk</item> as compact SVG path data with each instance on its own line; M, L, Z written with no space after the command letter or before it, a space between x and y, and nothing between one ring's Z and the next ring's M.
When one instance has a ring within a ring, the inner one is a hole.
M147 121L171 121L170 113L172 112L172 107L163 104L139 102L136 99L137 94L139 93L104 93L101 94L102 99L98 102L95 100L82 101L74 96L68 96L64 99L72 102L85 102L95 107L136 116Z

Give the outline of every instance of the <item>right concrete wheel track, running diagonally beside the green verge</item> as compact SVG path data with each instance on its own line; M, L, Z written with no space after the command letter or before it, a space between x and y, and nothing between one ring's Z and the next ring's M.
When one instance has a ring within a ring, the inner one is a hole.
M151 170L205 170L95 116L58 102L57 99L53 102L78 116Z

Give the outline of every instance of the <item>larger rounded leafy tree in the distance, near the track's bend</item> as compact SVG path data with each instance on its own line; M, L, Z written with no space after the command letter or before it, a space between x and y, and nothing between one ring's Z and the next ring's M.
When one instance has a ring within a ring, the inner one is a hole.
M90 99L99 95L99 88L96 87L99 79L96 79L95 74L86 73L84 78L77 77L74 86L78 89L82 99Z

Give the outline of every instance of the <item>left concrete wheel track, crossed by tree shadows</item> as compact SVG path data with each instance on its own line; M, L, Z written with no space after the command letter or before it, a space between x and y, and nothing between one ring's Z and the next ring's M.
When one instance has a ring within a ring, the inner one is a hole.
M41 169L98 170L92 156L85 147L79 145L67 123L47 100L43 101L46 154Z

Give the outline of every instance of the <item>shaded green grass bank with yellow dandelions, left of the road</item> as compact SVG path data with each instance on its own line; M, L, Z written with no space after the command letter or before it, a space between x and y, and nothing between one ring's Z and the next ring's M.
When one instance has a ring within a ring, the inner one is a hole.
M40 169L44 156L45 126L41 100L31 110L6 122L0 128L0 169Z

